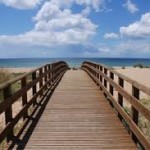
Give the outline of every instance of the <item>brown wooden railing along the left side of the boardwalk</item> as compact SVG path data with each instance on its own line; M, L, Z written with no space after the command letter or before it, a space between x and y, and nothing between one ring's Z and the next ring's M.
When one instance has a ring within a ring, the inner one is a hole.
M0 133L0 143L5 138L7 142L12 140L14 126L20 119L28 118L30 106L36 105L37 98L41 97L49 89L48 87L53 90L67 69L68 65L63 61L46 64L0 85L1 97L3 97L0 103L0 115L3 113L5 118L5 126ZM15 92L13 92L12 88L14 84L20 84L20 89ZM28 92L31 92L30 97ZM20 98L22 108L14 117L12 105L19 101Z

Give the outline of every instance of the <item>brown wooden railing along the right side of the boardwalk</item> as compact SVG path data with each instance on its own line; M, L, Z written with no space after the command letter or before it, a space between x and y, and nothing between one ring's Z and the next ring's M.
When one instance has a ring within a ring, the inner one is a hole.
M150 150L150 142L138 124L140 115L150 123L150 109L140 102L140 92L150 95L150 89L103 64L83 62L81 68L99 85L137 146ZM124 82L131 85L132 94L124 89ZM123 108L125 100L130 103L130 115Z

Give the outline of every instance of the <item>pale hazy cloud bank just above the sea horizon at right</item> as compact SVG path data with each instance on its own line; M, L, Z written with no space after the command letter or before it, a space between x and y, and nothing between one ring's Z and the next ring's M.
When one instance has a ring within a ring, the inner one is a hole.
M98 43L93 45L94 52L89 52L89 57L149 57L150 56L150 42L139 40L128 40L126 42L121 41L115 45L109 45L108 43ZM97 51L98 50L98 51ZM87 57L88 57L87 56Z

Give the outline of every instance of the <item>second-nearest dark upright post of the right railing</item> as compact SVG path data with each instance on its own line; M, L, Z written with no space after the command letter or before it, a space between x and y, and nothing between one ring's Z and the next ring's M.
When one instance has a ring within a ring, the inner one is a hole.
M122 78L118 78L118 84L123 88L124 87L124 80ZM123 96L118 93L118 103L121 107L123 107ZM119 119L122 121L122 116L118 113Z

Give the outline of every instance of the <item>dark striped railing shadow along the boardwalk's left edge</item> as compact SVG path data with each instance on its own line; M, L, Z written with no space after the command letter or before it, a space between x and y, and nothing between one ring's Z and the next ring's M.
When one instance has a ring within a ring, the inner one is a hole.
M11 144L8 146L9 150L25 148L57 85L58 83L49 87L39 99L39 102L35 104L33 112L28 116L17 136L12 137Z

